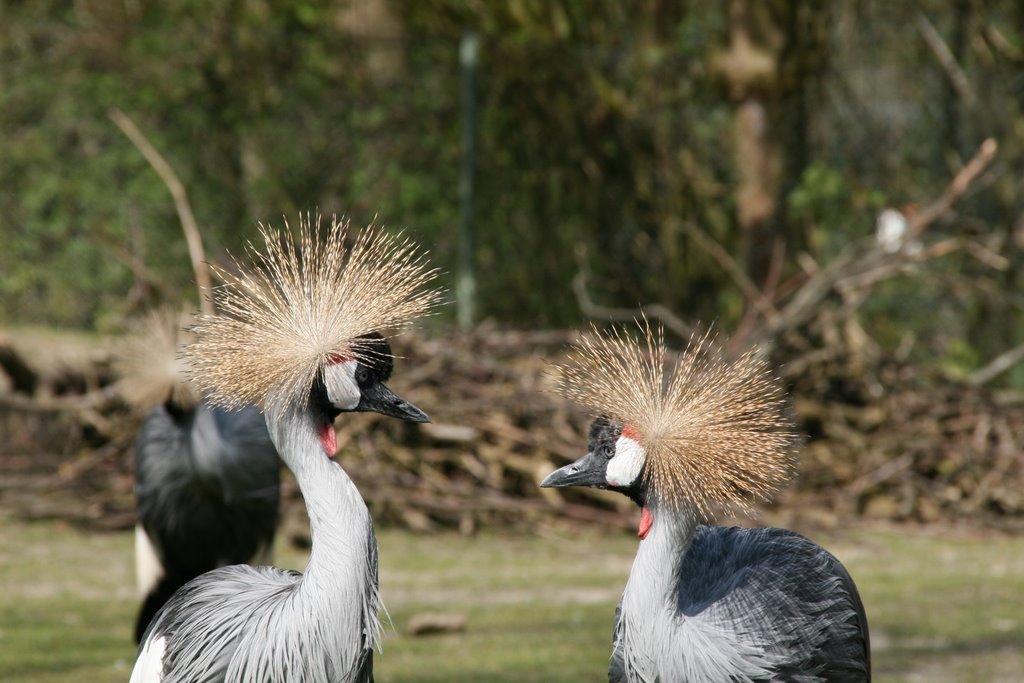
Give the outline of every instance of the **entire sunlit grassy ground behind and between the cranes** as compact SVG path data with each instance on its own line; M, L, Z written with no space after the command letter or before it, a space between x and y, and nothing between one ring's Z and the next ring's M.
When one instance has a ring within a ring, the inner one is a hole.
M815 540L861 587L876 680L1024 680L1024 540L905 529ZM604 680L635 539L384 531L380 544L393 629L379 683ZM128 533L0 518L0 681L126 681L131 563ZM465 614L465 633L407 635L426 611Z

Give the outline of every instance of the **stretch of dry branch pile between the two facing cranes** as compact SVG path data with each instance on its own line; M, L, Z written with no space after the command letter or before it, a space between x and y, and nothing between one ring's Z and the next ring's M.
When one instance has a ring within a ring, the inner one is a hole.
M547 364L572 338L481 329L399 341L396 352L404 357L392 384L433 422L415 427L373 416L338 420L343 463L375 519L463 531L481 523L534 523L553 513L632 523L616 512L629 509L621 497L597 490L561 496L537 485L587 450L588 417L546 386Z

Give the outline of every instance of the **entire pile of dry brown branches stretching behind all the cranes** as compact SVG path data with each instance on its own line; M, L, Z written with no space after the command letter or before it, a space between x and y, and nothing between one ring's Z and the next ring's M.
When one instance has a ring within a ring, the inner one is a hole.
M632 526L624 498L537 486L586 449L588 416L546 390L547 364L572 336L480 329L399 338L391 384L433 423L338 420L339 457L375 519L464 532L565 520ZM5 369L12 355L41 348L0 347ZM115 345L97 348L58 360L80 368L63 393L40 380L38 395L8 386L0 396L0 506L102 527L133 522L131 441L139 418L105 375ZM780 344L776 355L784 351ZM46 350L50 361L59 353ZM825 523L859 515L1024 521L1024 396L938 381L891 358L869 365L848 349L804 353L780 368L808 434L784 507ZM290 480L287 493L297 506Z

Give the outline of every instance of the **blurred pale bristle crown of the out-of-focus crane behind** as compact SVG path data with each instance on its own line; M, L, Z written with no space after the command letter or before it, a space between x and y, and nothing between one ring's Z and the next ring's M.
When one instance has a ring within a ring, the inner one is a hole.
M190 312L173 309L152 311L139 322L114 368L120 377L121 394L128 402L150 409L170 400L189 408L199 400L181 355L191 322Z

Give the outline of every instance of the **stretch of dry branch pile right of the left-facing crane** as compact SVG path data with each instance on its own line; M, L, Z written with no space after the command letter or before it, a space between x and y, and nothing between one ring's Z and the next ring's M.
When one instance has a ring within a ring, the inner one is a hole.
M790 377L808 434L800 505L836 519L1024 522L1024 394L922 372L847 358Z

